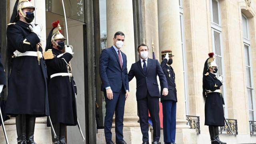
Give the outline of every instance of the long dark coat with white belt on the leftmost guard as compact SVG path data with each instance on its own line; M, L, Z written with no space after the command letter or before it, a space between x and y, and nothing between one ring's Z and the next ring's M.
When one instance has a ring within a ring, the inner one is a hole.
M12 53L37 51L38 36L31 32L29 24L18 20L7 28L8 50ZM42 48L39 47L40 52ZM8 79L8 96L6 114L31 114L48 116L47 74L44 59L36 56L19 56L12 58L10 78Z

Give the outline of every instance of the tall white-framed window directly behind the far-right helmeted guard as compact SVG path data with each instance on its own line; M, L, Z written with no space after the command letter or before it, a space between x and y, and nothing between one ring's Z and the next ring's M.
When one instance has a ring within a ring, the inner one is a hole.
M224 75L224 62L223 62L223 51L222 51L222 26L220 19L220 3L219 0L210 0L210 13L211 13L211 28L212 28L212 51L215 54L215 61L218 65L217 74ZM224 77L225 78L225 77ZM225 80L224 80L225 83ZM220 87L224 101L225 96L225 84ZM224 115L227 114L226 102L223 106Z

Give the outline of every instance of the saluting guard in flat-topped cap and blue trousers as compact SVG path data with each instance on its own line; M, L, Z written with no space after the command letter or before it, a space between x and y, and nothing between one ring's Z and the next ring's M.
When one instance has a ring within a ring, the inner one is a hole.
M161 52L161 55L161 67L168 83L168 95L161 96L163 105L164 144L175 144L177 90L175 73L171 66L172 57L174 55L172 55L171 50L164 50Z

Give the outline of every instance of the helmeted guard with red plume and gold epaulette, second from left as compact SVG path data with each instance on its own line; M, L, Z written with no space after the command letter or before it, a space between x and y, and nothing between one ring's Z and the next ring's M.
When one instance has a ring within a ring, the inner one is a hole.
M65 45L59 21L52 23L44 58L48 72L50 117L56 132L53 144L66 144L66 126L76 126L76 84L71 73L72 46ZM48 125L49 126L49 125Z

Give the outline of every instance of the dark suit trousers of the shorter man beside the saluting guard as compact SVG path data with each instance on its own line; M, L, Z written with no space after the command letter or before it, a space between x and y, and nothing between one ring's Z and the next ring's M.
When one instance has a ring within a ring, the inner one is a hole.
M159 119L159 98L151 97L147 94L147 97L141 100L137 100L138 112L140 118L140 129L143 135L142 141L149 142L148 140L148 110L153 124L153 141L159 142L160 139L160 119Z

